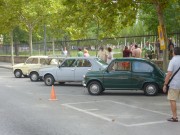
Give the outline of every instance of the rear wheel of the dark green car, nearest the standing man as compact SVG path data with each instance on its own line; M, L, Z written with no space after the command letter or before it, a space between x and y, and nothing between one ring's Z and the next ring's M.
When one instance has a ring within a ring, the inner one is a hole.
M144 93L146 96L155 96L158 93L158 87L154 83L147 83L144 86Z

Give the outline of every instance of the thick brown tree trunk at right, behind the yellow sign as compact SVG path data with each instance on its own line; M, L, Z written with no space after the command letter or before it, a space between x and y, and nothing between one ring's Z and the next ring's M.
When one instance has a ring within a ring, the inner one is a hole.
M163 18L163 9L161 3L155 3L156 4L156 11L158 14L158 21L159 25L162 26L162 33L164 36L165 40L165 50L163 50L163 70L167 71L167 66L168 66L168 55L167 55L167 48L168 48L168 38L167 38L167 33L164 25L164 18Z

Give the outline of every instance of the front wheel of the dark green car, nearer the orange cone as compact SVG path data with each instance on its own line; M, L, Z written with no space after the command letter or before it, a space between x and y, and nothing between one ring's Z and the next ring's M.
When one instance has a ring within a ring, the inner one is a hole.
M91 95L99 95L103 92L103 89L99 82L93 81L88 85L88 92Z

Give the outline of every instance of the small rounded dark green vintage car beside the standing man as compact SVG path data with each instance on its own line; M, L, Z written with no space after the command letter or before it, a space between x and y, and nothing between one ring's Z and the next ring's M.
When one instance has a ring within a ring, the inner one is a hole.
M145 95L154 96L162 92L164 78L165 73L148 60L120 58L105 70L87 72L82 83L91 95L104 90L143 90Z

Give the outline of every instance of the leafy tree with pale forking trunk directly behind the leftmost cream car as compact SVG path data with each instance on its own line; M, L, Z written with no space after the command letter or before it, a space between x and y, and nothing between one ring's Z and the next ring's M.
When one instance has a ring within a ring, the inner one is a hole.
M45 25L46 20L57 12L59 1L56 0L21 0L18 12L21 27L29 32L30 55L32 55L32 33L38 24ZM44 24L43 24L43 23Z

